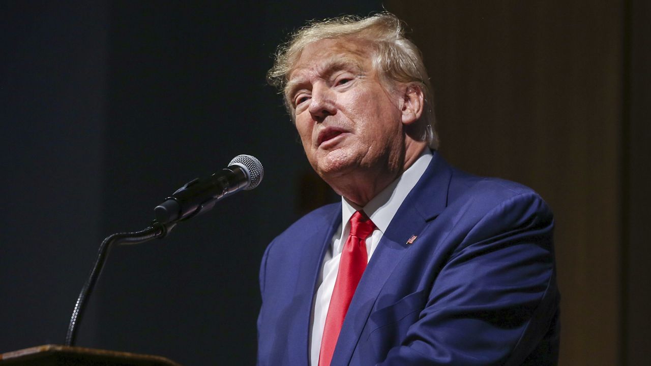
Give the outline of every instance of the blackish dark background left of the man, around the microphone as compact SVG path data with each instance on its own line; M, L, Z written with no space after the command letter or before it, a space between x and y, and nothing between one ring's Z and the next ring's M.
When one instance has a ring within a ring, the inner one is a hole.
M262 185L114 248L77 344L255 363L258 267L311 171L266 70L311 18L378 2L3 1L0 352L63 343L102 239L240 153ZM331 194L330 200L337 200Z

